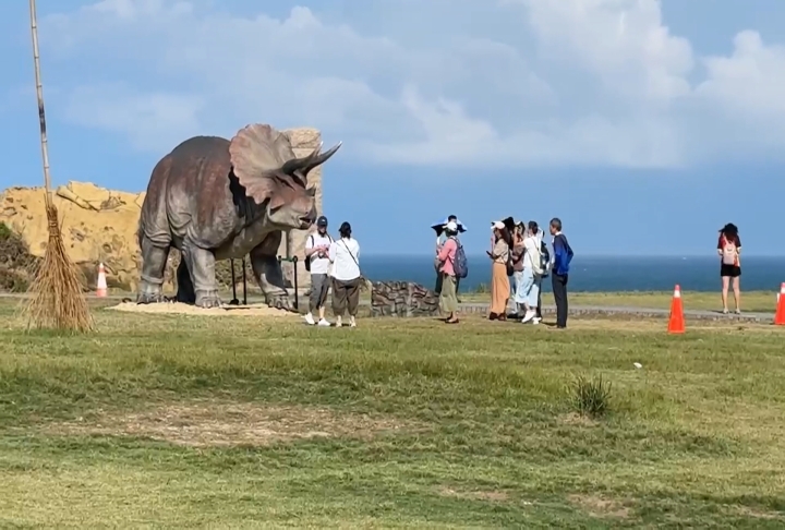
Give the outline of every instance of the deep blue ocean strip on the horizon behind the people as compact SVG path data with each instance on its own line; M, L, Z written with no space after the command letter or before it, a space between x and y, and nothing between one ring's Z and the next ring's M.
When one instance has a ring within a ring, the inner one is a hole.
M491 281L487 256L468 256L469 276L461 280L466 292ZM431 256L362 256L362 273L371 280L406 280L433 287ZM741 289L777 291L785 281L785 256L742 256ZM699 257L576 256L570 266L571 291L669 291L675 285L687 291L720 289L720 261Z

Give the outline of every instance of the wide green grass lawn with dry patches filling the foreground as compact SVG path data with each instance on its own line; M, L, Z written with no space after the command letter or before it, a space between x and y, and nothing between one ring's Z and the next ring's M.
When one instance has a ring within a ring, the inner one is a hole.
M95 315L0 304L0 527L785 525L785 329Z

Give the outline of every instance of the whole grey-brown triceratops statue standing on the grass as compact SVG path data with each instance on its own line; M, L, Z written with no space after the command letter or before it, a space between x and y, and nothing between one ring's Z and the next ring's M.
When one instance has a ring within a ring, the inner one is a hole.
M216 260L250 254L267 303L291 310L277 258L281 237L316 220L309 171L339 147L322 153L319 145L298 158L289 136L265 124L247 125L231 141L195 136L174 147L153 169L142 204L136 302L164 301L164 272L173 246L182 254L178 301L220 306Z

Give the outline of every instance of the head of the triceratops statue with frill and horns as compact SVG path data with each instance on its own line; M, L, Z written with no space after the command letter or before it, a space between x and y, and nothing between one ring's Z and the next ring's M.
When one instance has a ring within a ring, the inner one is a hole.
M322 153L322 145L298 158L286 134L270 125L253 124L231 140L232 171L245 194L266 208L266 220L279 229L307 229L316 220L314 188L309 172L327 161L341 144Z

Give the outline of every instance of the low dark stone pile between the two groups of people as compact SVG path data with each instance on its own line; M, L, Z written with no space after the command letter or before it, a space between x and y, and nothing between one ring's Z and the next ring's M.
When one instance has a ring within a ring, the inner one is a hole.
M435 316L438 294L411 281L374 281L371 312L373 316Z

